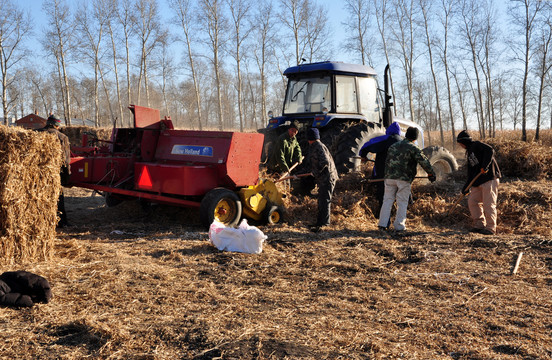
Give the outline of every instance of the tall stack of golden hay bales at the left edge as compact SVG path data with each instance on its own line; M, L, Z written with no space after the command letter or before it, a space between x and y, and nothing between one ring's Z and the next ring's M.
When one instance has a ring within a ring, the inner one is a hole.
M61 162L55 135L0 126L0 262L50 257Z

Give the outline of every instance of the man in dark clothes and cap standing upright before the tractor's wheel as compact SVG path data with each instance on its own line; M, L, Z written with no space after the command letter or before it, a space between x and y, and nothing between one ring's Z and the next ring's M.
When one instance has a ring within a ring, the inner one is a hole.
M318 216L316 223L310 226L313 232L320 231L322 226L330 225L330 204L338 175L330 151L320 141L317 128L307 130L309 142L308 164L312 176L318 185Z

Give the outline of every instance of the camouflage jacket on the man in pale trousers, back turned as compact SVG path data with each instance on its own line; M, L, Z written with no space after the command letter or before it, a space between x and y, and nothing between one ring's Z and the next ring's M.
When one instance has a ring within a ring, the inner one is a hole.
M418 164L428 175L435 175L429 160L412 141L404 139L389 148L385 160L385 178L412 182L416 177Z

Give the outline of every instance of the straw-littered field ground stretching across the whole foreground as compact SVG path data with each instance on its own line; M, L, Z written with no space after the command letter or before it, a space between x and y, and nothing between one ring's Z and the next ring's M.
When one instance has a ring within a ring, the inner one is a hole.
M51 282L54 298L0 309L0 356L549 359L548 164L504 179L496 236L466 231L465 203L447 215L463 172L415 184L404 235L376 229L372 189L351 174L331 227L308 232L315 199L290 195L290 222L260 226L259 255L218 251L193 210L107 208L66 189L72 226L58 232L53 258L21 264Z

